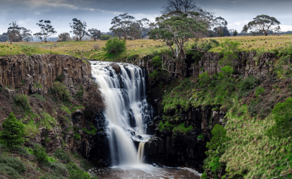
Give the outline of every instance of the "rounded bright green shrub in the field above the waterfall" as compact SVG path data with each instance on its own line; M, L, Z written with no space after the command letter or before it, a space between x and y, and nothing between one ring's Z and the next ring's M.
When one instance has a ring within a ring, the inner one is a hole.
M126 50L126 40L120 40L119 38L114 37L106 42L103 49L108 54L119 54Z

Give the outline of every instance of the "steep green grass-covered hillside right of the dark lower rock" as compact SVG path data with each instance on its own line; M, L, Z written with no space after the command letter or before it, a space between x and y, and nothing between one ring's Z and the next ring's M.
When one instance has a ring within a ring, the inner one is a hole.
M214 75L203 72L160 84L164 113L174 114L164 118L160 130L174 131L171 122L190 107L225 112L228 142L221 156L209 150L202 179L292 178L292 45L286 44L277 51L274 71L264 78L234 75L232 67L225 66Z

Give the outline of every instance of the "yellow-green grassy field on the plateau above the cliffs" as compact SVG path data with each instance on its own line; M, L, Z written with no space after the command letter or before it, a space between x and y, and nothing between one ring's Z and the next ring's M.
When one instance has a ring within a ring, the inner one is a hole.
M219 43L225 39L236 40L241 43L241 51L252 51L257 49L265 49L271 51L285 48L292 43L292 36L231 36L231 37L215 37L202 38L199 41L191 39L189 45L193 43L203 43L209 39L216 39ZM0 43L0 56L11 54L71 54L75 57L86 57L88 59L101 61L116 61L121 59L138 58L142 59L147 55L154 55L167 49L159 41L151 39L127 40L127 50L121 54L107 54L102 47L106 41L65 41L65 42L14 42L9 45L7 42ZM221 47L214 47L209 52L220 52Z

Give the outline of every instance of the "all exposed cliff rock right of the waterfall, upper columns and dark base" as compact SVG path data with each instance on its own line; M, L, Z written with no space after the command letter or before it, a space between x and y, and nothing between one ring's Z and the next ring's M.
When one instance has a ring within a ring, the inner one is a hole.
M203 72L208 72L211 76L221 72L222 66L219 64L221 58L222 56L219 56L218 53L205 53L197 62L187 58L184 71L188 72L187 77L198 78ZM274 53L264 53L258 56L255 51L241 52L238 59L232 60L235 65L235 76L233 77L253 75L258 79L265 79L268 74L273 73L273 64L276 60ZM148 73L152 73L155 69L150 59L146 61L145 68ZM163 82L169 84L171 80L166 77ZM161 81L161 79L149 79L148 81L149 101L156 108L158 115L154 118L153 123L148 124L148 133L155 135L145 145L146 161L149 164L191 167L203 173L203 160L207 157L205 156L206 143L211 139L211 130L214 125L226 124L226 119L224 119L226 109L220 110L220 106L202 106L190 107L180 114L164 113L164 107L161 105L164 94L161 88L157 87ZM197 101L197 99L190 100ZM163 121L163 116L170 116L171 119L168 121L174 126L184 123L185 128L192 125L193 129L184 133L161 130L159 123ZM176 121L177 117L180 117L179 121Z

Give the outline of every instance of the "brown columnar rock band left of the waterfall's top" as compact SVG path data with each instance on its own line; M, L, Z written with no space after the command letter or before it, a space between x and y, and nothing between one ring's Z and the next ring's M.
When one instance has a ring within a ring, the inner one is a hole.
M0 56L0 84L10 89L19 88L24 94L46 94L61 74L67 89L74 93L74 85L88 87L91 66L69 55Z

